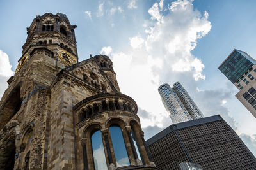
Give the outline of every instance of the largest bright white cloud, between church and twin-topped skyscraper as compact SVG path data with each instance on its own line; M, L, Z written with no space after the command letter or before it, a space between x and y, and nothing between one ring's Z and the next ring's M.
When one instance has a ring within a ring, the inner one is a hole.
M196 87L205 79L204 64L191 50L211 29L207 15L201 15L186 0L173 3L163 15L161 3L148 10L151 20L143 24L146 36L141 36L143 32L132 36L130 48L111 53L120 89L135 99L140 111L148 113L148 117L141 117L143 128L163 128L171 122L157 91L161 83L180 81L184 86ZM196 92L196 88L193 90Z

